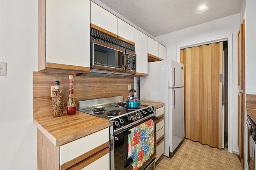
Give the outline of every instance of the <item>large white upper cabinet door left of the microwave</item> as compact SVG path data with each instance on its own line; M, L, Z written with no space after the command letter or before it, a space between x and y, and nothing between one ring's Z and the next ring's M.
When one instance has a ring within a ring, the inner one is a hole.
M47 0L45 26L46 63L90 67L89 0Z

